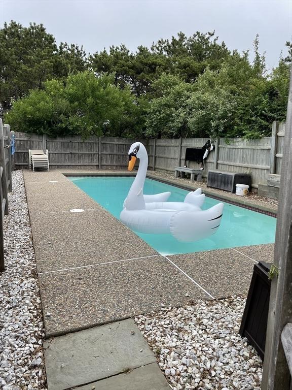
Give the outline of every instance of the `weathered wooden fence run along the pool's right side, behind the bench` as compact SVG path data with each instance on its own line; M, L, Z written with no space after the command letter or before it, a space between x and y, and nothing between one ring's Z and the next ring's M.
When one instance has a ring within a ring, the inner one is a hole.
M214 152L209 153L203 177L209 169L219 171L251 173L252 187L266 184L267 174L280 174L283 156L285 123L274 122L272 137L257 140L242 138L218 138ZM153 170L173 172L175 166L183 166L187 148L202 147L207 138L149 140L149 167ZM190 161L189 168L197 168Z

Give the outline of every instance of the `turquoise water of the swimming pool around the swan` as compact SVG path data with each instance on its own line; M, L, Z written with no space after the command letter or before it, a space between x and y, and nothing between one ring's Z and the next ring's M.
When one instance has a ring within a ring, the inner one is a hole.
M134 177L74 177L70 180L119 219ZM184 201L189 192L156 180L145 179L144 194L164 191L171 191L169 201L173 202ZM206 198L202 209L207 209L218 202L215 199ZM224 203L220 228L210 238L194 243L182 243L171 235L135 233L159 253L168 255L273 243L275 231L276 218Z

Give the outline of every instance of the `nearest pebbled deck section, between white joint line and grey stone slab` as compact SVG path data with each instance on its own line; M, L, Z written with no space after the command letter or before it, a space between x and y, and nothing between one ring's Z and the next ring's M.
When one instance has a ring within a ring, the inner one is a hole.
M209 299L159 255L39 278L47 337L160 310L161 304L181 306L191 299Z

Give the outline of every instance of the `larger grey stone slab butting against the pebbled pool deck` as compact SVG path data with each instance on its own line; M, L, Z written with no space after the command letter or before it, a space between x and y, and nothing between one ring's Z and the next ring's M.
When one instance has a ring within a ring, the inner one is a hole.
M156 358L132 319L71 333L44 343L49 390L96 381Z

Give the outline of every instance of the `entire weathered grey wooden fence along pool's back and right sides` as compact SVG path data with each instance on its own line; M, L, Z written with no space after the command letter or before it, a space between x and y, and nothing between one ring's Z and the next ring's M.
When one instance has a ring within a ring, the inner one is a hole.
M280 173L285 123L273 123L272 137L258 140L241 138L215 140L215 150L209 153L203 177L209 169L251 173L252 187L266 184L269 173ZM28 149L48 149L52 168L124 169L129 146L141 141L148 150L149 169L174 172L175 166L183 166L187 148L200 148L207 138L149 139L81 137L47 138L45 135L15 133L16 168L28 167ZM190 168L197 163L190 161Z

